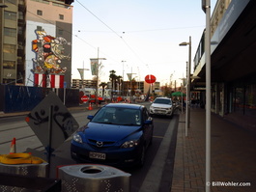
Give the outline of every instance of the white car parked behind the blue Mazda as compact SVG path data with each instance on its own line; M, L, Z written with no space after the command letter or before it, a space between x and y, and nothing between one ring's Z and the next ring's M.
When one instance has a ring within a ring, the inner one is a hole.
M156 97L150 106L150 115L161 115L172 117L174 112L174 106L171 98Z

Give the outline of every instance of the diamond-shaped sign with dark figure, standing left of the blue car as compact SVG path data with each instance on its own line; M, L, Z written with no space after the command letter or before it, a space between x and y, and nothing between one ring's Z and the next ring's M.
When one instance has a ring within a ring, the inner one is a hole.
M56 150L79 127L54 92L43 98L28 114L25 121L49 151Z

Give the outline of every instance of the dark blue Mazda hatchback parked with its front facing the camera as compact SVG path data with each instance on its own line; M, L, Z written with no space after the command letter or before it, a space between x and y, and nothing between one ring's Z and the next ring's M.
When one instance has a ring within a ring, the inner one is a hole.
M143 105L110 103L80 127L71 141L71 157L77 162L115 167L143 166L153 140L154 123Z

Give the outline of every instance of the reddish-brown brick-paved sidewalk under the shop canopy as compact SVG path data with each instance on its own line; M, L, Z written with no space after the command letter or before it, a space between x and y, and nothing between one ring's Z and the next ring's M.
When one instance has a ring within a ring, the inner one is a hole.
M180 115L172 192L205 191L206 111ZM256 134L212 114L211 191L256 191ZM242 186L238 186L242 185Z

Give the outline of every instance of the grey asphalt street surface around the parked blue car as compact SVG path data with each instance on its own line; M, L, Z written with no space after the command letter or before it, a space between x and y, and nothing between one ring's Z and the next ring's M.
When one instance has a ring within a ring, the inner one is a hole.
M145 104L147 107L150 103ZM71 111L74 119L81 126L87 123L87 115L94 115L97 110ZM142 168L123 169L131 174L130 190L168 191L171 186L174 153L176 145L178 116L172 119L154 117L155 130L153 145L146 153L146 162ZM43 145L25 122L25 116L0 119L0 151L9 153L11 140L16 138L16 152L32 151L35 156L45 158ZM75 164L70 155L71 138L53 152L50 162L50 178L55 178L58 165ZM27 150L29 149L29 150Z

